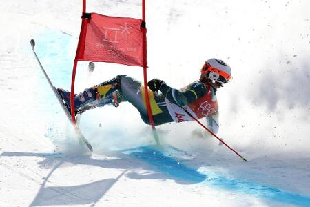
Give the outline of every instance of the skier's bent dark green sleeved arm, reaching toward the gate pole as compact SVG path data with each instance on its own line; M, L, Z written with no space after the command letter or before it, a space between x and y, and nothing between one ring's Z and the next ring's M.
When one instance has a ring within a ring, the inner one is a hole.
M180 106L185 106L196 101L207 92L205 85L199 81L196 81L183 91L167 86L166 83L161 84L159 90L169 101Z

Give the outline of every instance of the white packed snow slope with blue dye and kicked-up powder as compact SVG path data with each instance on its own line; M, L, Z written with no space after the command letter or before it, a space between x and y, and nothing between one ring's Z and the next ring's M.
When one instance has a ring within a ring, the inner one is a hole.
M33 57L70 89L79 1L0 1L0 206L310 206L310 2L147 1L148 77L181 88L206 59L231 66L218 90L220 132L158 126L129 103L81 116L74 137ZM87 12L141 17L140 1L87 2ZM76 91L142 69L80 62Z

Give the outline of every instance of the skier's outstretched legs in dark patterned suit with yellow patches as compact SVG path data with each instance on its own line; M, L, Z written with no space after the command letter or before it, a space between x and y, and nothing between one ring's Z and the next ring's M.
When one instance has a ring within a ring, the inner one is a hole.
M61 97L70 108L70 92L58 89ZM162 94L154 93L149 90L150 103L154 124L164 124L172 122L165 97ZM82 113L96 106L113 104L118 106L121 101L130 102L139 112L146 124L149 124L147 108L145 106L145 90L139 81L125 75L118 75L109 81L105 81L92 88L87 88L79 95L74 97L74 107L76 112Z

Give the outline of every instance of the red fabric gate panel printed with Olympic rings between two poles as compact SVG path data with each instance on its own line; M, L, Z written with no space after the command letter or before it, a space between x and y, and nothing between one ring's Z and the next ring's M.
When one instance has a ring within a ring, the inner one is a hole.
M76 59L144 66L142 20L89 14Z

